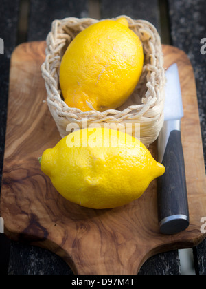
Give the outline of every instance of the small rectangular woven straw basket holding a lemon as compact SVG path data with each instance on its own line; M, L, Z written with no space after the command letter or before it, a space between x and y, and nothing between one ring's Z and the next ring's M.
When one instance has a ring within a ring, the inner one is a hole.
M47 104L61 137L68 135L72 126L74 130L107 126L126 128L126 133L137 138L140 133L140 140L147 147L157 139L163 125L165 85L161 39L156 28L148 21L124 17L130 29L141 39L144 67L135 91L124 105L104 112L95 111L93 107L87 112L68 107L63 101L59 85L60 62L67 46L79 32L98 20L69 17L53 21L52 31L47 36L46 58L41 71L47 89Z

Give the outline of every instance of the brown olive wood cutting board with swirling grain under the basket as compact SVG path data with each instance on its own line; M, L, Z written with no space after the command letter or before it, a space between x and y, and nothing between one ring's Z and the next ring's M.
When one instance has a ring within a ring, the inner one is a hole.
M11 239L47 248L76 275L137 275L156 253L196 246L204 238L205 165L196 85L186 54L163 45L165 68L177 63L183 96L181 137L185 158L190 226L161 235L154 180L144 195L126 206L83 208L65 200L40 170L38 157L60 140L46 103L41 64L45 41L23 43L12 54L8 120L1 189L1 216ZM157 159L157 143L150 145Z

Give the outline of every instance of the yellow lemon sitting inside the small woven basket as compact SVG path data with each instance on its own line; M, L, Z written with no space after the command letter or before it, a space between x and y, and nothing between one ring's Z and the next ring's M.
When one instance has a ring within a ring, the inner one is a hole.
M144 52L137 34L122 17L82 30L71 41L60 65L65 103L82 111L116 109L139 81Z

